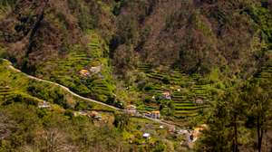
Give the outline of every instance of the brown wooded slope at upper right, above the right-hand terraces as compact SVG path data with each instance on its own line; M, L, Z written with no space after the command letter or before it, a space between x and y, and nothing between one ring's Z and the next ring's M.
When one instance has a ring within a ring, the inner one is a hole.
M207 73L214 67L252 72L257 54L271 48L265 44L271 41L271 13L264 4L253 0L121 1L112 40L115 61L120 66L137 61L178 66L190 73Z

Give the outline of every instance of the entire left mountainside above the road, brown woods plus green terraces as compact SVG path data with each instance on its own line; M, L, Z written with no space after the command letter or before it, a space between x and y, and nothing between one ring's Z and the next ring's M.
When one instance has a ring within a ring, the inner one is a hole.
M113 2L1 3L2 56L22 71L60 82L86 97L114 102L107 45L114 32ZM93 73L92 79L80 74L92 67L102 70Z

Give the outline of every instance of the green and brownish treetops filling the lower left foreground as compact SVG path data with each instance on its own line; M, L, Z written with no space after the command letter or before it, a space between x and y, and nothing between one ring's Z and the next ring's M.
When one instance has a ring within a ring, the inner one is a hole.
M71 112L65 115L71 116ZM1 151L110 151L123 148L121 134L107 125L95 127L89 119L66 119L62 113L35 109L34 106L16 103L0 106ZM4 138L3 138L4 137Z

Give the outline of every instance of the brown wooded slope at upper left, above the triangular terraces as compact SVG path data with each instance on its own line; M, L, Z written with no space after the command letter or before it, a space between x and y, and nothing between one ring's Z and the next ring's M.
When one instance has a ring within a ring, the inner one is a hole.
M99 27L110 35L110 6L102 1L4 1L1 42L25 71L49 58L63 58L83 43L83 32ZM95 13L94 13L95 12Z

